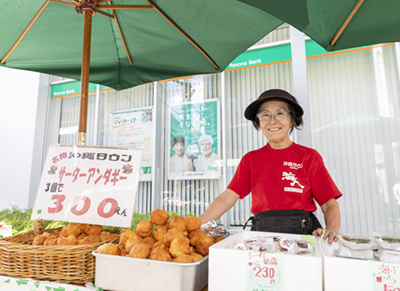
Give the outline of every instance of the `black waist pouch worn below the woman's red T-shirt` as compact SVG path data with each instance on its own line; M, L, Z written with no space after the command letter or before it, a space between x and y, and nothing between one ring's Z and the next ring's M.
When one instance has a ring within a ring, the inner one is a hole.
M315 229L322 228L312 212L297 209L259 212L247 220L243 229L249 221L252 231L312 234Z

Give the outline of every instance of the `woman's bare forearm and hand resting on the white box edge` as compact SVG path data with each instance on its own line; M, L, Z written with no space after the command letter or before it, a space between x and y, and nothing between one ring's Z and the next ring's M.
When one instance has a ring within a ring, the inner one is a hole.
M324 213L326 225L323 239L328 238L328 243L331 244L333 241L338 241L338 238L335 235L339 232L340 226L339 204L335 198L332 198L321 205L321 210ZM321 236L323 231L322 228L318 228L313 231L313 235Z

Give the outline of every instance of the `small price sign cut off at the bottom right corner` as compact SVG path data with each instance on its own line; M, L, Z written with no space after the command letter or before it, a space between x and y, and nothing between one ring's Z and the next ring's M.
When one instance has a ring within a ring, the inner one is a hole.
M368 261L372 273L372 290L400 291L400 264Z

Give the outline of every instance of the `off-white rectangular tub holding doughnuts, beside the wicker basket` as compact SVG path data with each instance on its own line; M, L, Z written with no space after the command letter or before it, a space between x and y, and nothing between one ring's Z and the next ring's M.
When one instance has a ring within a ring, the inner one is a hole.
M103 255L96 258L95 285L113 291L201 291L208 284L208 256L195 263Z

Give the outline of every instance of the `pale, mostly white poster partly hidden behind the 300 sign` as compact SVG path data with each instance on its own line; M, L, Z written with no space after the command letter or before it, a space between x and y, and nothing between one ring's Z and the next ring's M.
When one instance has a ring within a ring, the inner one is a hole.
M112 147L142 151L140 181L151 181L153 108L142 107L111 114Z

